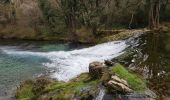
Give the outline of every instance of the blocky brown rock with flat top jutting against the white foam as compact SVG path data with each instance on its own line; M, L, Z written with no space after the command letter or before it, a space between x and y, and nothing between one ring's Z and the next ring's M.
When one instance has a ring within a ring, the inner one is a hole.
M104 71L104 64L101 62L92 62L89 64L89 74L93 78L101 78Z

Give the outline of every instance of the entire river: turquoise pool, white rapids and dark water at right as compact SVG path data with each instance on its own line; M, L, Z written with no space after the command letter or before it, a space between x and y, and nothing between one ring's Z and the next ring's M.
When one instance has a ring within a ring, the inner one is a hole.
M23 80L48 74L52 78L69 81L80 73L88 72L90 62L116 58L129 51L133 55L124 60L129 68L141 71L150 83L156 84L153 90L164 86L167 89L165 94L168 94L170 42L165 39L167 36L161 36L137 35L91 47L55 42L0 41L0 100L8 100L9 91ZM152 84L149 86L152 87ZM104 95L103 90L101 94Z

